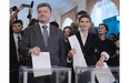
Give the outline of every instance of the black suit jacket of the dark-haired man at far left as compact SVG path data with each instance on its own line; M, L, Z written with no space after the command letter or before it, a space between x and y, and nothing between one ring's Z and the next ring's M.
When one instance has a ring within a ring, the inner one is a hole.
M13 34L10 34L10 83L19 82L19 62Z

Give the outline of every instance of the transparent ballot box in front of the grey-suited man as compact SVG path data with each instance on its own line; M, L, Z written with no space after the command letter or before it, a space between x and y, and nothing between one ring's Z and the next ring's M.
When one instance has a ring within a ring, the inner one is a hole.
M46 74L47 72L51 73ZM59 66L52 66L52 69L31 69L28 66L20 68L20 83L50 83L50 82L71 83L71 69Z

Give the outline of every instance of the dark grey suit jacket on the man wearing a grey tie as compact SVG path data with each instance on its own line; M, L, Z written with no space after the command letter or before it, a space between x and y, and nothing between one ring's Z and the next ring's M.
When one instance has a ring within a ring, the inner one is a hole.
M50 25L48 46L46 48L39 24L27 28L19 43L19 52L28 55L29 50L34 46L39 46L41 52L50 52L52 65L66 65L63 33L60 29ZM28 62L31 62L31 59Z

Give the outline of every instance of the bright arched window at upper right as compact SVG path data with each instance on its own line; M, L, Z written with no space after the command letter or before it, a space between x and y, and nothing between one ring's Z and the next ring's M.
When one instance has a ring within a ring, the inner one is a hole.
M91 11L91 19L95 27L102 23L102 20L115 15L118 15L117 6L110 0L98 1Z

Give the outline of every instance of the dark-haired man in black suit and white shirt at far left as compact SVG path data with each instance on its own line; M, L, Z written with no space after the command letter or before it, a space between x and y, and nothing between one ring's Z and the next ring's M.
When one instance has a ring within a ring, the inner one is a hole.
M10 34L10 83L19 82L20 55L18 52L18 41L21 38L22 21L16 20L12 23L13 33Z

